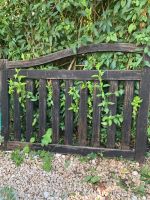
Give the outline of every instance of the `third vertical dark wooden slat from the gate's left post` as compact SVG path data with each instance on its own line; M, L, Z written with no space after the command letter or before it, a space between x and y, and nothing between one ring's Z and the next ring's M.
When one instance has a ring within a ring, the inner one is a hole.
M46 80L39 81L39 138L46 132Z

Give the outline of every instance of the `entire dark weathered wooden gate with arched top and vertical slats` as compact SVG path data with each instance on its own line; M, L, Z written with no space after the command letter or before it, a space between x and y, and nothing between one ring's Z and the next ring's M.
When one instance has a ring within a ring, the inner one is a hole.
M143 52L142 48L137 48L131 44L98 44L81 47L77 50L76 55L94 52ZM107 147L100 146L100 123L101 123L101 109L98 106L100 97L97 96L98 89L96 84L98 80L93 75L98 74L95 70L29 70L30 66L39 66L52 61L56 61L65 57L74 56L72 50L63 50L51 54L49 56L40 57L31 61L8 61L1 60L1 103L2 103L2 134L5 138L5 145L7 149L12 149L17 146L22 146L21 142L21 121L20 121L20 105L18 94L14 94L14 138L15 141L10 141L9 131L9 94L8 94L8 80L13 78L15 68L21 68L20 74L26 76L26 89L33 91L33 80L39 80L39 131L37 133L40 139L46 131L46 80L51 80L53 89L53 112L52 112L52 131L53 143L45 147L47 150L56 151L60 153L80 153L86 155L90 152L102 152L106 156L123 156L135 158L138 161L144 160L146 152L147 140L147 118L149 108L149 93L150 93L150 70L144 67L143 70L109 70L105 71L103 80L110 84L110 92L114 93L118 89L120 81L125 82L125 95L123 106L123 124L122 124L122 139L121 148L115 148L116 126L112 124L108 128L107 133ZM147 59L144 57L144 59ZM60 125L60 81L65 82L65 135L64 144L58 144L60 139L59 125ZM91 145L87 146L87 88L80 89L80 105L79 105L79 121L78 121L78 146L73 145L73 112L69 110L72 97L68 94L70 87L74 81L93 81L93 119L92 119L92 140ZM130 148L131 137L131 122L132 122L132 106L134 94L134 82L139 82L140 94L142 103L138 112L136 125L135 147ZM111 95L111 102L114 104L110 106L111 113L116 114L117 99L115 95ZM27 99L26 102L26 142L30 141L32 134L32 120L33 120L33 102ZM32 148L42 148L40 144L32 144Z

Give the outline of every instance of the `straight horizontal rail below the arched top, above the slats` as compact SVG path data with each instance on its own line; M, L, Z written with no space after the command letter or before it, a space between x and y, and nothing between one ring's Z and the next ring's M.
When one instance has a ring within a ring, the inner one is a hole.
M8 77L13 78L15 70L8 71ZM98 75L96 70L21 70L20 75L29 79L70 79L70 80L96 80L93 75ZM104 80L141 80L141 70L109 70L103 75Z

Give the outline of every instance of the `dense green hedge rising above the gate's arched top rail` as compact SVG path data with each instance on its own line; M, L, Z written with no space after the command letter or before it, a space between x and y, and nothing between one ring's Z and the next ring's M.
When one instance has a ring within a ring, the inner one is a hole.
M149 0L1 0L0 57L29 59L98 42L148 44L149 15Z

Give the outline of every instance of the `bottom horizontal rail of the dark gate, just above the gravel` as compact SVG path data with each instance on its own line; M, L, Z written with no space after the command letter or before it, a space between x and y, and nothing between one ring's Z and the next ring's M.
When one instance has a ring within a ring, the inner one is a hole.
M72 146L72 145L59 145L59 144L50 144L46 147L42 147L41 144L27 143L27 142L8 142L7 149L13 150L16 147L22 149L25 145L29 145L33 150L47 150L51 152L57 152L62 154L72 153L72 154L81 154L87 155L89 153L102 153L104 156L115 157L123 156L124 158L134 158L134 150L119 150L119 149L107 149L107 148L97 148L97 147L85 147L85 146Z

